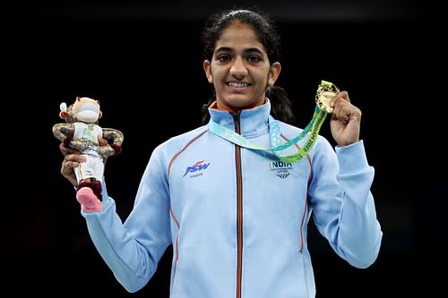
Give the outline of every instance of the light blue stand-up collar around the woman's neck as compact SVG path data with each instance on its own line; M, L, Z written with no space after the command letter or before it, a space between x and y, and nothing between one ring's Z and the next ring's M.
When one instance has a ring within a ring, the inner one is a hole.
M233 115L229 111L218 109L215 101L209 107L209 113L212 121L233 131L235 131L236 119L239 118L241 135L246 137L256 136L268 129L271 102L266 98L262 106L244 109L238 113L239 115Z

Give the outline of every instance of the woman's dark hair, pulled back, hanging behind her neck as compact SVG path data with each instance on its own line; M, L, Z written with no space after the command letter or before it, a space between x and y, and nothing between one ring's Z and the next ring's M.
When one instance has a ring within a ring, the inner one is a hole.
M220 38L222 31L228 28L234 21L243 22L252 26L260 43L266 49L270 63L280 62L280 34L271 18L257 9L232 9L223 13L212 14L205 22L201 34L203 59L211 61L216 42ZM272 116L286 123L294 122L292 103L285 89L278 86L269 87L266 89L266 97L271 100ZM215 100L216 94L213 91L212 97L202 106L202 124L209 121L210 115L208 108Z

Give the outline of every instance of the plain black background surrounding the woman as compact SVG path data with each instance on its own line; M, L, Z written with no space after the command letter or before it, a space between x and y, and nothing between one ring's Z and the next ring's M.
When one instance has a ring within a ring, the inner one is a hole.
M375 166L372 192L384 233L378 260L351 268L311 224L317 296L436 293L448 236L443 11L423 1L256 4L280 27L278 85L294 101L297 126L313 114L319 81L336 83L363 111L361 138ZM168 297L171 248L136 294L127 294L100 259L73 188L59 175L62 156L51 127L61 122L61 102L100 100L101 126L125 134L123 153L106 170L108 192L125 220L152 149L199 125L211 96L199 33L209 14L232 6L137 0L6 6L1 291ZM332 140L328 126L322 134Z

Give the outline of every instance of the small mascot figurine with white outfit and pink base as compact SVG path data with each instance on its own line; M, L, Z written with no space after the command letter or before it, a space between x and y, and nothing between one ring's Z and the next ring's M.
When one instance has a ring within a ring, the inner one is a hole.
M65 123L56 123L53 134L66 148L76 149L85 162L73 168L78 181L76 200L82 211L94 212L102 208L101 180L106 158L121 152L123 133L111 128L101 128L99 100L76 97L73 105L60 105L59 116Z

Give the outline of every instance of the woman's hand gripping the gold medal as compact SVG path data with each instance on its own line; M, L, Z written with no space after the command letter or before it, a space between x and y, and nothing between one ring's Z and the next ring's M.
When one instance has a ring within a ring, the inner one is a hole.
M338 145L347 146L359 140L361 110L350 103L349 93L340 91L332 98L332 137Z

